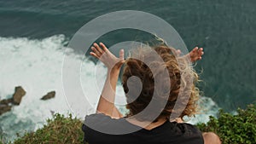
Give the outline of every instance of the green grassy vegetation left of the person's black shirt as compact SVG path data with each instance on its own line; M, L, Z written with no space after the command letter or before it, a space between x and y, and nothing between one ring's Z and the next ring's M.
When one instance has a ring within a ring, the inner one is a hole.
M78 118L72 118L71 115L65 118L61 114L55 114L42 129L23 135L15 144L83 143L84 133L81 128L82 122Z

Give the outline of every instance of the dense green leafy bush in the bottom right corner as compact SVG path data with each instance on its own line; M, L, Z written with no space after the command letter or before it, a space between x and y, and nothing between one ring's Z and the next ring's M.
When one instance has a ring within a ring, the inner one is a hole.
M248 105L246 110L238 109L237 115L223 110L218 118L210 117L207 124L197 124L201 131L212 131L219 135L223 144L256 143L256 104Z

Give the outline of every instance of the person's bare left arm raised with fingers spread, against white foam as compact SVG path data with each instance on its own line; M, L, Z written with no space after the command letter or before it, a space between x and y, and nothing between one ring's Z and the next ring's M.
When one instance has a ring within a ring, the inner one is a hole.
M102 63L108 68L107 79L102 89L102 95L98 102L96 112L102 112L111 118L121 118L123 116L114 106L114 99L120 67L125 62L124 50L120 50L119 58L117 58L103 43L99 43L99 45L94 43L91 49L92 52L90 52L90 55L101 60Z

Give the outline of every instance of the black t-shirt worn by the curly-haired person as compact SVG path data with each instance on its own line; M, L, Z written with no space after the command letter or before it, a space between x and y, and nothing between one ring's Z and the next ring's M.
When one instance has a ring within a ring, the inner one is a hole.
M204 143L201 131L191 124L166 121L153 130L145 130L125 118L114 119L104 114L86 116L82 130L84 142L89 144Z

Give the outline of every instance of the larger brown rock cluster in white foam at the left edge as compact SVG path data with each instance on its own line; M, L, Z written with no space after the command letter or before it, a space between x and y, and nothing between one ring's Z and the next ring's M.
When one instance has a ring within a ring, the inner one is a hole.
M26 91L21 87L15 87L15 94L12 98L3 99L0 101L0 115L9 112L13 105L20 105L22 97L26 95Z

